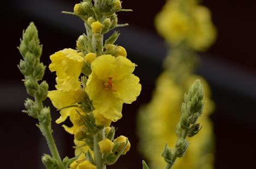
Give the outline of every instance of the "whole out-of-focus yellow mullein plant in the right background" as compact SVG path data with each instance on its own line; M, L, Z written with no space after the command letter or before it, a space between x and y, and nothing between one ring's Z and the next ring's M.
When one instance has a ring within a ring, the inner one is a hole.
M169 0L157 14L155 25L169 49L163 62L164 71L157 80L152 99L139 111L140 151L148 160L149 166L154 169L164 168L164 166L165 168L173 166L172 168L175 169L211 169L215 148L209 115L214 109L214 103L210 99L211 91L206 80L193 73L199 61L196 52L206 51L216 39L211 12L196 0ZM180 108L183 93L195 79L201 80L205 90L204 115L199 118L202 128L198 124L188 128L186 126L188 122L183 122L183 118L188 116L184 115L184 111L189 107L186 105L189 92ZM185 126L182 127L182 125ZM201 131L191 137L197 132L189 134L188 131L199 128ZM183 134L188 136L187 140L184 140ZM189 143L186 155L185 152L177 151L177 145L180 142L184 147ZM168 146L175 148L170 149ZM164 158L159 156L161 153ZM166 158L166 154L167 156L169 154L170 158Z

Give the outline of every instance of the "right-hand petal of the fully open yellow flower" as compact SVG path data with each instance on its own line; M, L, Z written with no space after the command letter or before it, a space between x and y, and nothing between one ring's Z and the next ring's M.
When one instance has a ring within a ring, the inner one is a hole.
M128 74L123 80L113 82L114 95L120 98L124 103L132 103L140 95L140 79L134 74Z

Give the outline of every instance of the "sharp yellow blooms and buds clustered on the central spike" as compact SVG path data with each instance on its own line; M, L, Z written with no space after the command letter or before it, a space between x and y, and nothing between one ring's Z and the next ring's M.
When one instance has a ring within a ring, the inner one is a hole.
M61 114L56 123L64 122L69 116L73 124L72 127L63 125L68 133L74 135L75 155L79 156L79 159L72 163L71 168L96 168L90 161L85 160L87 151L91 154L94 152L85 139L88 136L85 119L89 118L90 112L86 112L82 107L84 97L87 95L93 104L91 111L95 121L93 125L109 129L111 122L122 117L123 103L132 103L140 94L139 78L132 74L135 64L126 58L126 50L123 47L115 46L115 48L117 57L110 54L97 57L95 53L87 53L82 57L82 54L74 49L63 49L50 56L52 63L49 68L52 72L56 72L57 90L49 91L48 97ZM91 74L88 76L86 86L82 86L80 76L83 66L87 65L90 65ZM103 139L98 142L100 152L111 153L114 144L119 143L120 146L115 152L122 151L122 154L126 154L130 148L128 142L123 150L126 139L124 136L117 137L114 142Z

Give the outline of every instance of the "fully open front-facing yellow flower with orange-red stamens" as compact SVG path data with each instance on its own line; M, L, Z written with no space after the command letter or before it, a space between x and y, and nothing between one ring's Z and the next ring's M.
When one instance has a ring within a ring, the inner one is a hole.
M132 103L141 91L140 79L132 74L135 64L125 57L101 55L91 68L86 92L100 114L117 121L122 117L123 103Z

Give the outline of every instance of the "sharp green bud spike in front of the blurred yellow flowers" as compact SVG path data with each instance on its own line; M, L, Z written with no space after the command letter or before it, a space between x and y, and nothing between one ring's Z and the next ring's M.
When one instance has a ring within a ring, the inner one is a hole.
M171 149L165 145L162 157L168 163L166 168L170 168L177 158L181 158L186 153L188 141L186 137L192 137L200 130L200 125L197 123L198 117L204 109L204 90L200 80L195 80L192 86L189 87L188 94L184 95L184 103L181 107L181 118L178 122L175 133L178 140L175 143L175 148Z

